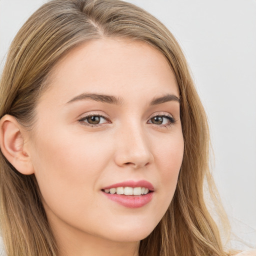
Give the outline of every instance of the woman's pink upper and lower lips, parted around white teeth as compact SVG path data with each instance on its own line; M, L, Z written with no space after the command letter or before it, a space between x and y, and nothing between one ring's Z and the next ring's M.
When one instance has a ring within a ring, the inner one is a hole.
M119 186L129 186L129 187L146 187L150 190L149 193L144 194L144 195L125 195L125 194L110 194L110 193L105 193L103 189L110 189L110 188L116 188ZM115 183L110 186L106 186L101 189L102 193L110 200L117 202L118 204L121 204L125 207L128 208L139 208L147 204L148 202L151 201L153 197L153 191L154 187L153 185L146 181L146 180L138 180L138 181L133 181L133 180L127 180L124 182L120 183Z

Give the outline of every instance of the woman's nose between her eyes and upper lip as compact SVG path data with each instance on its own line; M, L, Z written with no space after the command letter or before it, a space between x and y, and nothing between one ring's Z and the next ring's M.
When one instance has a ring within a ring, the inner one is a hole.
M118 166L142 168L153 162L150 140L140 125L121 129L115 138L115 162Z

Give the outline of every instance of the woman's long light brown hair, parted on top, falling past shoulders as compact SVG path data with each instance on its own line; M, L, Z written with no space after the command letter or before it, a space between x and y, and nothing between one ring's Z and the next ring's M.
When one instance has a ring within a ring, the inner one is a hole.
M217 201L208 168L206 115L185 57L168 29L143 9L119 0L52 0L35 11L15 36L0 80L0 117L31 127L34 108L55 63L71 48L103 37L144 41L172 68L180 92L184 156L174 197L145 239L140 256L220 256L218 228L204 202L204 183ZM33 174L20 174L0 154L0 225L8 256L57 255L58 249Z

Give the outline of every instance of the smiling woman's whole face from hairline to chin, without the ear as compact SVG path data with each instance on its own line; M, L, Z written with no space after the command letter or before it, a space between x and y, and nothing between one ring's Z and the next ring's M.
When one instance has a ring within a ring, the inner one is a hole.
M145 42L95 40L70 51L51 78L27 142L50 225L59 235L146 237L173 197L183 156L165 57Z

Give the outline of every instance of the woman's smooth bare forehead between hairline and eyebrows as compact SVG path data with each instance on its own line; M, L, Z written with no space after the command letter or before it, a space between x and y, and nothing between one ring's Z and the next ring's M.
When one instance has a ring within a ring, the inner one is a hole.
M50 91L57 95L55 100L65 102L84 92L117 97L130 92L136 92L135 97L148 92L179 95L175 76L160 51L146 42L120 38L87 41L70 50L52 69Z

